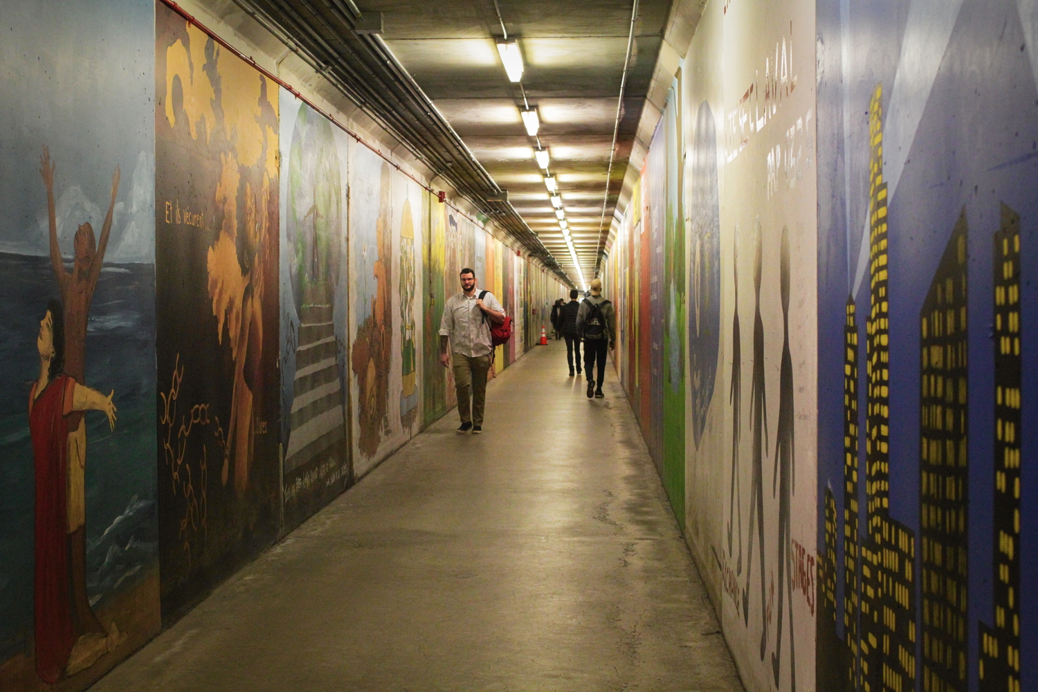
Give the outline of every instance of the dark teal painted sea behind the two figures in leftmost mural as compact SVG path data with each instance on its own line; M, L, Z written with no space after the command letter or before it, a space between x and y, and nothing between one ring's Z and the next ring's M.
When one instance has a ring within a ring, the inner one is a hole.
M87 323L86 384L115 391L115 431L87 414L87 592L91 603L134 586L157 561L155 266L106 267ZM115 271L109 271L115 270ZM57 296L50 258L0 253L0 660L32 628L33 460L28 392L36 335Z

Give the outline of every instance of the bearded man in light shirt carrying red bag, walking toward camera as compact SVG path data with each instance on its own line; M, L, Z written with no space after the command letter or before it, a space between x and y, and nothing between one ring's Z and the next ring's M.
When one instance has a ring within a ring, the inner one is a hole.
M461 292L447 299L440 320L440 364L454 366L458 394L459 435L483 432L483 408L487 399L487 372L493 352L490 323L504 322L504 308L489 290L477 290L475 272L459 274ZM447 339L450 351L447 351Z

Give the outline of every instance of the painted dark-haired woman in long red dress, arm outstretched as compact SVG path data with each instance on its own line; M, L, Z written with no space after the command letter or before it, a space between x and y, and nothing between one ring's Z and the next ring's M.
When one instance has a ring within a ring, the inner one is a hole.
M107 634L87 631L76 617L67 537L69 419L74 412L103 411L115 428L114 391L108 396L62 371L64 315L51 300L36 337L39 377L29 394L29 431L35 468L36 672L48 683L88 668L125 635L112 622Z

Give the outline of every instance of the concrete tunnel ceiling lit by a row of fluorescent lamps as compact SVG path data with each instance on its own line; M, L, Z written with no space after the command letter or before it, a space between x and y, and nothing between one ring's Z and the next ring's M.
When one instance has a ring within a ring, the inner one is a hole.
M583 277L594 276L601 231L608 232L652 82L671 0L640 0L628 65L610 194L606 172L632 10L631 0L498 0L509 37L523 57L520 83L509 81L495 39L493 0L358 1L383 12L385 44L411 74L571 280L579 283L534 159L542 146L559 194ZM537 107L529 137L519 108Z

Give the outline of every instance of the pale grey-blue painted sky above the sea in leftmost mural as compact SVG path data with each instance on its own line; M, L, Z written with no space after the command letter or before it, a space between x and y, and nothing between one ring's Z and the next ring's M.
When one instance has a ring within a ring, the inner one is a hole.
M84 219L100 232L118 165L106 260L154 261L154 25L151 0L0 3L0 252L47 253L46 144L64 253Z

